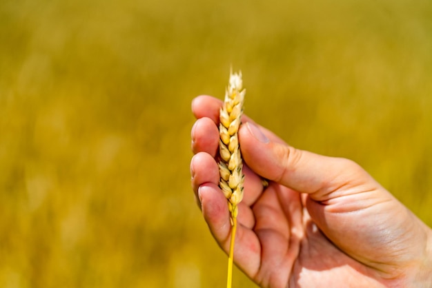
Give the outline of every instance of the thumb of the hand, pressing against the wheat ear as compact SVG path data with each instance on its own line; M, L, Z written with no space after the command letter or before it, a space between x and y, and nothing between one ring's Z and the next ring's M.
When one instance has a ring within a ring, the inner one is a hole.
M239 143L245 163L255 173L297 192L313 194L314 200L328 200L329 193L347 183L355 186L371 180L353 161L297 150L251 122L240 127Z

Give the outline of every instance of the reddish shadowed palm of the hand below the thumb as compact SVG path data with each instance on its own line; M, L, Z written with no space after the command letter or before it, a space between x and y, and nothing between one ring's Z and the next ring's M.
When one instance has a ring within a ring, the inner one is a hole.
M237 237L250 250L239 251L248 255L238 256L239 267L262 287L378 285L374 269L345 254L317 229L304 208L306 197L271 183L248 208L251 212L242 213L249 218L239 221L249 223L244 228L250 229L239 229Z

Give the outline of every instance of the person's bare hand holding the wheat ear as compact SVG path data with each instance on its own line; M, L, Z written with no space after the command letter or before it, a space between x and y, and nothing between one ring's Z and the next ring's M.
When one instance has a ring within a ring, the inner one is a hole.
M228 253L230 219L218 187L219 107L192 104L192 187ZM234 261L261 287L432 287L432 231L345 158L297 150L243 116L244 200ZM263 187L262 178L269 181Z

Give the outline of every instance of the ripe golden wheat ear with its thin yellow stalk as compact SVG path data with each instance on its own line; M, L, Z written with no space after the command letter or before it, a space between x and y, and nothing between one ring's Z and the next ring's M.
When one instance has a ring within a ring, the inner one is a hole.
M219 187L228 199L231 216L231 239L228 256L228 277L226 287L233 282L233 256L235 230L237 229L237 205L243 199L244 174L243 162L239 148L239 126L243 114L243 102L246 90L242 87L242 72L230 72L228 87L225 92L224 105L219 112Z

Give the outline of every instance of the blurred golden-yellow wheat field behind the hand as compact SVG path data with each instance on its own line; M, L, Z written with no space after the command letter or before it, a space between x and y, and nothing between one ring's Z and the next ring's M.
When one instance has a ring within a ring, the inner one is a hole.
M190 101L230 65L246 114L432 225L431 1L2 0L0 287L224 287Z

